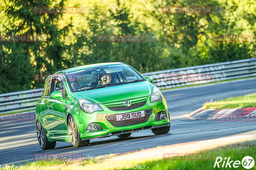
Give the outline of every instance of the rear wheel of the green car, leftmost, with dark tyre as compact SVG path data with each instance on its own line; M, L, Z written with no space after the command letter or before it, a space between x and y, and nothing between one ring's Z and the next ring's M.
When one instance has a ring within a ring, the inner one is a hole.
M56 142L48 141L44 126L39 120L36 122L36 134L41 149L53 149L56 146Z

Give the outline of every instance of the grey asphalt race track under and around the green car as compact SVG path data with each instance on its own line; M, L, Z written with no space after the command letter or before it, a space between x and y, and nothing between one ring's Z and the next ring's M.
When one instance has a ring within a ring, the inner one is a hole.
M204 102L256 92L256 79L214 83L162 91L171 114L171 130L156 136L151 130L134 132L128 138L92 139L88 146L74 148L57 142L51 150L41 150L34 121L0 121L0 165L24 164L35 154L82 154L84 158L109 153L136 151L163 145L220 138L256 129L255 121L190 120L184 114L200 108Z

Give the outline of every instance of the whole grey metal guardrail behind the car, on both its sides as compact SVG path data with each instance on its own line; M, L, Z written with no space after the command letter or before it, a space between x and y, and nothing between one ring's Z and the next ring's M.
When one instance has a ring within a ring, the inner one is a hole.
M256 76L256 58L142 74L153 78L159 89ZM0 94L0 114L34 109L43 89Z

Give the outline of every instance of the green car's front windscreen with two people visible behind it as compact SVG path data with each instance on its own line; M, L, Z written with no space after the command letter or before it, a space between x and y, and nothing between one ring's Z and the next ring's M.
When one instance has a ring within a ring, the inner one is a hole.
M126 64L87 68L65 75L72 92L145 81L140 74Z

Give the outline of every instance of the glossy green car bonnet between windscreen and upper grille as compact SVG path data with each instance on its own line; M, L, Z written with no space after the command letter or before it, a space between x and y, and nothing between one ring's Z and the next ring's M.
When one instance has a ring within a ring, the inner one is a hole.
M153 92L153 87L154 85L148 81L140 81L136 83L75 92L73 94L77 98L86 99L99 104L149 96Z

